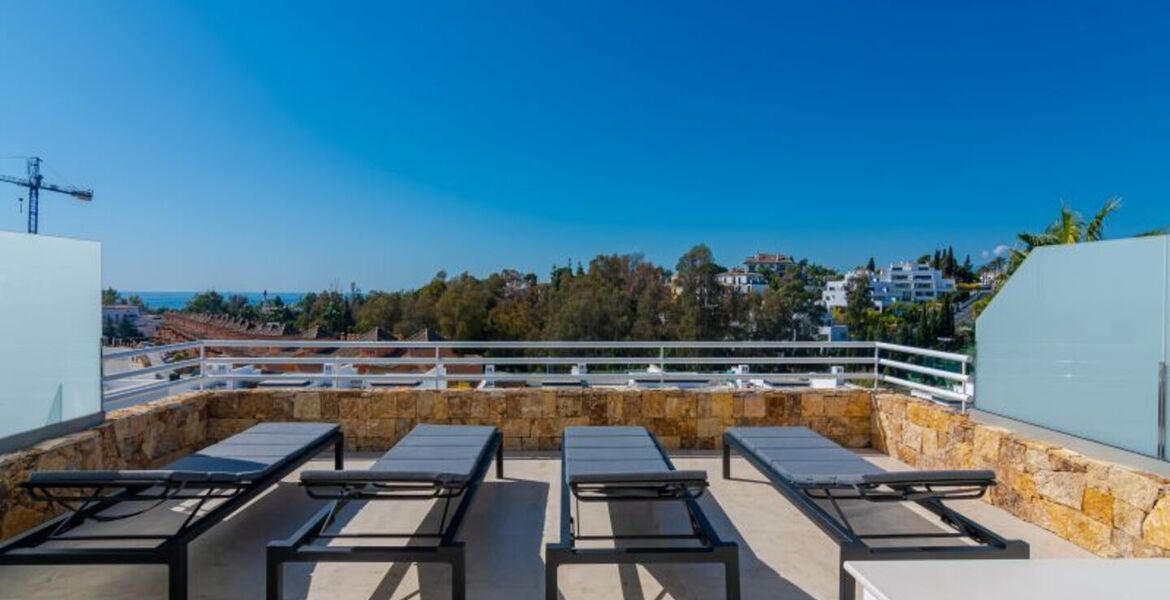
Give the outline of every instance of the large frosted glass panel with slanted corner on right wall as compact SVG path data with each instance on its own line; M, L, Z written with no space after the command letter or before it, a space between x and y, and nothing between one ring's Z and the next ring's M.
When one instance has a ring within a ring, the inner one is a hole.
M976 326L977 406L1155 455L1168 240L1033 251Z

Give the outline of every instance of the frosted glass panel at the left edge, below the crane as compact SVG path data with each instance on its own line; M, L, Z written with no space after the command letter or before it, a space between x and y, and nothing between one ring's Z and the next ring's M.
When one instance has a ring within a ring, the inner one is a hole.
M0 232L0 439L102 411L97 242Z

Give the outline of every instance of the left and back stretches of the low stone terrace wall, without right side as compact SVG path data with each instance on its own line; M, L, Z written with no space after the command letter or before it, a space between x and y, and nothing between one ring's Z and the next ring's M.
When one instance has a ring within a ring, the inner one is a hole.
M383 451L415 423L483 423L514 450L551 450L571 425L645 425L668 448L716 448L735 425L805 425L853 447L870 439L863 391L208 391L111 412L102 425L0 455L0 539L56 511L19 488L54 469L150 469L261 421L339 422L351 450Z

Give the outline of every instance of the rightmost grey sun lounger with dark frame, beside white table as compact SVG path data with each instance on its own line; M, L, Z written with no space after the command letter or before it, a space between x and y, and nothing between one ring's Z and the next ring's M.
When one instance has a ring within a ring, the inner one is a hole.
M1026 543L1003 539L943 503L982 497L994 485L993 471L886 471L804 427L734 427L723 434L724 478L732 449L840 546L841 600L856 593L846 560L1028 557Z

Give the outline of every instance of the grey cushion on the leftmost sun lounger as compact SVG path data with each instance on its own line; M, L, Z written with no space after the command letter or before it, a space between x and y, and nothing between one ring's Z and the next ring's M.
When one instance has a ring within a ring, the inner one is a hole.
M156 485L247 483L277 470L335 434L331 423L260 423L156 470L39 471L29 485Z

